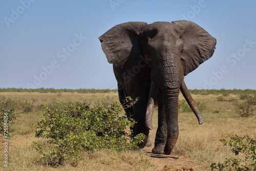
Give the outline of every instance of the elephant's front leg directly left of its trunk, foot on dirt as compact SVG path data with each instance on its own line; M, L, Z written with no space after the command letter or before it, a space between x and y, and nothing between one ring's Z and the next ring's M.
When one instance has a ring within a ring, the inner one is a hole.
M167 139L167 124L165 114L163 112L163 101L161 93L158 98L158 127L155 139L155 147L152 149L154 154L164 154L164 146Z

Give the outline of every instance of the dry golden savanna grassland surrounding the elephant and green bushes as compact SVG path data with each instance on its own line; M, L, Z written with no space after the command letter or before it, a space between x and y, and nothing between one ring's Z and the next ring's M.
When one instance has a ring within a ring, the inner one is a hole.
M230 139L234 135L256 135L256 116L241 117L236 113L235 102L245 101L245 96L256 97L252 90L191 90L191 95L199 101L205 109L202 112L204 123L198 124L193 112L187 112L185 106L179 107L179 138L172 155L179 155L192 161L201 170L210 170L211 163L223 162L225 158L233 156L230 148L220 139ZM184 97L180 93L182 103ZM255 100L255 99L254 99ZM32 148L35 138L35 127L40 121L41 103L48 103L55 109L61 108L65 102L80 101L90 108L102 103L106 107L112 101L118 101L117 91L104 90L54 90L38 89L25 91L23 89L0 90L0 109L6 111L14 108L18 117L10 123L8 131L11 139L8 143L8 167L4 166L4 137L1 136L0 169L6 170L157 170L172 163L155 162L155 158L143 151L114 152L102 149L94 153L81 151L82 159L76 167L65 162L53 168L41 162L41 156ZM255 103L252 104L255 108ZM203 109L203 108L202 108ZM255 111L252 111L255 114ZM124 112L121 112L124 115ZM154 142L157 128L157 108L153 115L153 130L150 132ZM179 160L179 159L177 159ZM174 164L174 163L173 163Z

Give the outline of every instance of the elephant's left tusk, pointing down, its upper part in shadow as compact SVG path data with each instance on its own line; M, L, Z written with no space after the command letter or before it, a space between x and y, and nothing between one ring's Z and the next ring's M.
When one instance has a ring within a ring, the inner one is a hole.
M152 81L151 88L150 88L150 96L148 97L148 102L146 107L146 117L145 117L145 123L148 130L153 129L152 117L154 112L156 96L157 96L157 85Z

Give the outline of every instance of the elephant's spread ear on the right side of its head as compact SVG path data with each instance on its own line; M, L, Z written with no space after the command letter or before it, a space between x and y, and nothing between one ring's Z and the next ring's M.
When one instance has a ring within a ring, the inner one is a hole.
M194 71L201 63L214 54L216 39L193 22L179 20L176 24L183 35L184 50L181 55L184 76Z

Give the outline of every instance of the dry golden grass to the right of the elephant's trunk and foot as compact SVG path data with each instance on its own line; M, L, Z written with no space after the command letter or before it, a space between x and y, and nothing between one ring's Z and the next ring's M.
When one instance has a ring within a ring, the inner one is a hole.
M237 117L231 101L218 102L218 95L193 97L207 105L206 111L202 112L204 123L199 125L195 116L188 116L193 115L191 113L180 113L180 135L175 153L194 159L195 163L206 169L212 162L223 162L233 155L220 139L229 140L234 135L256 135L256 117ZM230 95L225 98L236 97ZM214 110L219 110L219 113L214 113Z

